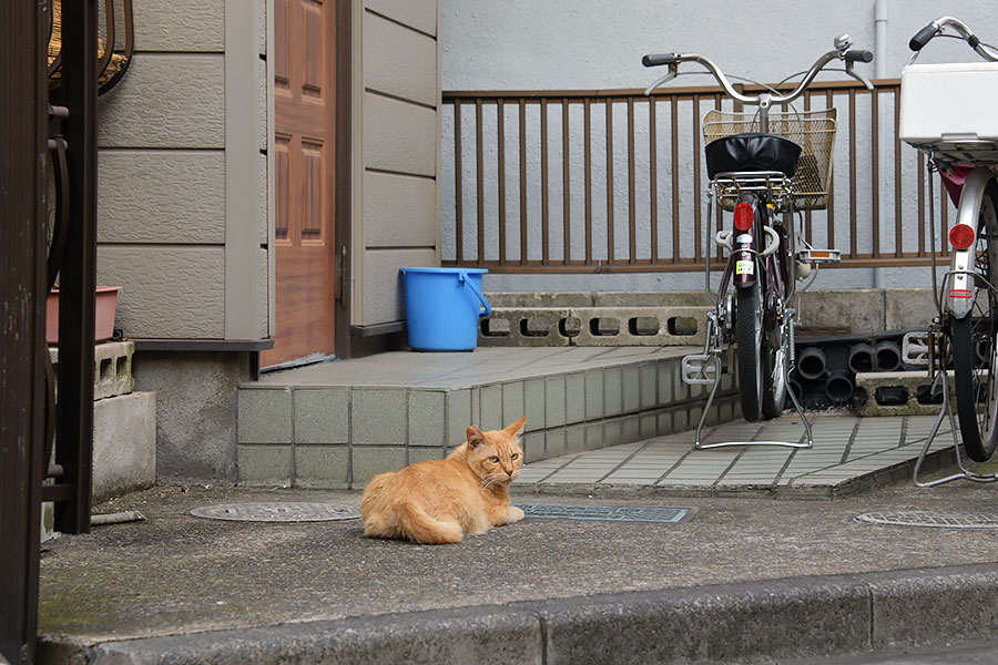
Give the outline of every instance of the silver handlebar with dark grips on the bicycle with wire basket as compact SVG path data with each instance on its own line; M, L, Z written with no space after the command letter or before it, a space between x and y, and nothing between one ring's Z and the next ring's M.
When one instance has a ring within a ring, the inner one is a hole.
M835 43L836 49L834 51L828 51L827 53L818 58L814 62L814 64L811 65L811 69L804 75L804 79L790 93L763 93L757 96L750 96L736 91L731 84L731 81L729 81L727 76L724 75L724 72L722 72L717 68L717 65L714 64L710 59L704 58L699 53L648 54L641 59L641 64L643 64L644 66L669 65L669 73L649 85L644 91L644 94L651 94L652 90L665 83L666 81L674 79L679 74L679 64L681 62L699 62L700 64L705 66L711 74L713 74L713 76L717 80L717 82L721 84L721 88L724 89L724 92L729 96L739 102L742 102L743 104L757 104L763 108L768 106L770 104L783 104L792 102L801 96L807 89L807 86L811 85L812 81L814 81L815 76L817 76L818 72L833 60L844 61L846 73L866 85L866 88L873 90L873 84L866 78L853 71L853 63L870 62L873 60L873 53L860 49L851 50L848 47L852 43L852 40L849 40L847 35L842 35L841 38L836 39Z

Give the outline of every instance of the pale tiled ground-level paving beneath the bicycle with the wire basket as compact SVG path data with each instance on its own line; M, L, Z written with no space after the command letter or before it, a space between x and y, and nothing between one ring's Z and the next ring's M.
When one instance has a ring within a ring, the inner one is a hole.
M737 446L693 450L693 432L658 437L581 454L533 462L518 487L537 491L643 488L682 494L772 491L813 497L844 495L910 478L914 461L935 424L935 416L856 418L831 411L807 413L814 448ZM796 413L765 422L726 422L704 428L704 443L719 441L804 442ZM939 453L953 450L944 423L925 470L938 468ZM951 456L945 454L948 463Z

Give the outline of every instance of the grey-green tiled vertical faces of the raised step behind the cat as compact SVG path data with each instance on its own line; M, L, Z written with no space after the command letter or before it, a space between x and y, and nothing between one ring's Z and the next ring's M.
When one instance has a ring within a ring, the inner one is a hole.
M696 427L706 390L679 357L467 388L244 385L238 479L244 484L361 489L377 473L441 459L476 423L527 416L527 463ZM725 375L709 422L737 417Z

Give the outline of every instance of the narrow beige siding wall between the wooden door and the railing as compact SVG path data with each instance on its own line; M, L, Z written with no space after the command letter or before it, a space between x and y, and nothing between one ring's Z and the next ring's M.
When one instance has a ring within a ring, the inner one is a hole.
M354 3L352 323L405 317L398 269L440 265L437 0Z

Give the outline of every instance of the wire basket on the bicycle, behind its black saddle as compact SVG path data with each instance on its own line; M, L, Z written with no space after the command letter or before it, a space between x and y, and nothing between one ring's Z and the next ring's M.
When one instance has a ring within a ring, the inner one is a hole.
M801 146L797 171L792 180L795 209L817 211L828 205L835 117L835 109L770 113L768 133L785 136ZM703 116L704 143L732 134L758 131L757 112L729 113L712 110ZM734 209L736 197L723 194L719 196L719 204L726 211Z

